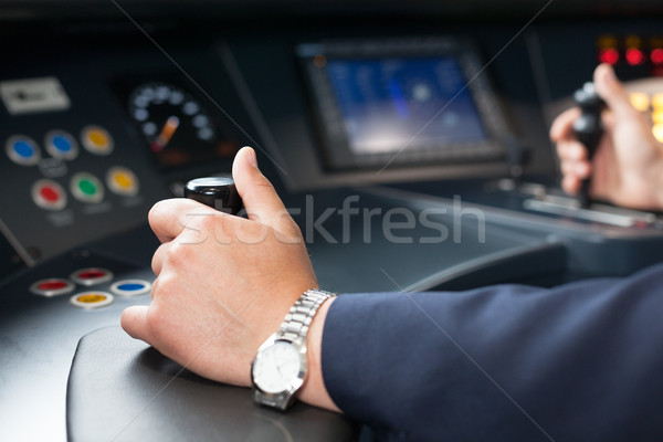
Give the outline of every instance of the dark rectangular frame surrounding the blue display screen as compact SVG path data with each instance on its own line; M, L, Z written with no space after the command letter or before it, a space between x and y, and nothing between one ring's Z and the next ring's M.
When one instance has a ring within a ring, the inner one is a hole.
M385 40L348 40L304 43L296 55L306 78L311 107L320 144L319 156L328 171L371 170L430 166L431 164L466 165L475 162L504 162L505 140L509 130L502 109L484 74L477 51L467 39L411 38ZM461 66L467 91L477 109L485 138L471 141L441 144L436 150L401 149L362 155L352 151L343 123L343 114L332 81L320 60L407 60L453 57Z

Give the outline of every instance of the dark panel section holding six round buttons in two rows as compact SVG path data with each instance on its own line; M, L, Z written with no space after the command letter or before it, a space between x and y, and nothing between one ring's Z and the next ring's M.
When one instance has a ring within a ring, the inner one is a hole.
M59 84L67 97L73 88L56 77L43 81ZM29 85L40 85L39 78L22 82L15 94L38 94ZM102 117L94 99L71 102L70 110L10 114L0 129L2 173L11 183L0 189L0 219L28 264L133 228L155 201L168 197L122 122ZM4 101L8 109L10 103Z

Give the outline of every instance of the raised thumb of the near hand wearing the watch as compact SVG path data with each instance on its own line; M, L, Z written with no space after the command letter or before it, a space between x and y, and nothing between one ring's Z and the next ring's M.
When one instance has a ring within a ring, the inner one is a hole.
M243 147L235 156L232 178L249 219L282 231L290 215L270 180L259 170L255 151L251 147Z

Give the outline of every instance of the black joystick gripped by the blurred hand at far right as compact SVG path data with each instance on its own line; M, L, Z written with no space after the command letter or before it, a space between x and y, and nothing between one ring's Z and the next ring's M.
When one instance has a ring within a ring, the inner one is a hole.
M601 137L603 136L603 124L601 122L601 110L606 107L606 102L599 96L593 83L585 83L582 88L576 91L573 99L580 106L580 116L573 122L576 138L587 148L587 158L591 161ZM590 203L589 187L591 178L582 181L578 199L582 208L588 208Z

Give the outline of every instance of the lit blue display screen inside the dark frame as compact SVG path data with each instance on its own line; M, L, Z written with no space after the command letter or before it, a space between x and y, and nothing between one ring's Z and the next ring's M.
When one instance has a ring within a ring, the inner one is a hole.
M354 154L439 149L486 138L463 69L452 56L333 59L326 67Z

